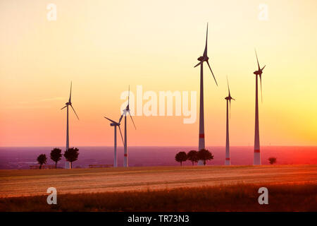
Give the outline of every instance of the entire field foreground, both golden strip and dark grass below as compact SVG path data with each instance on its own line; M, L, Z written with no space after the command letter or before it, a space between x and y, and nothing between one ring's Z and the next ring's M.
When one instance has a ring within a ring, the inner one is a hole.
M0 211L317 211L316 191L317 165L0 170Z

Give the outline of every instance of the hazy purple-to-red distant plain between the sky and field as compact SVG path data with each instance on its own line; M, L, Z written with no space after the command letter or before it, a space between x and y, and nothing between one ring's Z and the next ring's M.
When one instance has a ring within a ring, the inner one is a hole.
M37 165L37 156L45 154L47 164L54 165L49 157L53 148L63 146L49 147L8 147L0 148L0 169L29 169L30 165ZM77 146L79 148L78 160L73 162L74 167L88 167L94 164L113 164L112 146ZM214 159L207 162L207 165L224 165L225 147L224 146L206 146L213 153ZM196 146L130 146L128 147L129 165L133 166L168 166L179 165L175 162L175 154L180 151L197 150ZM277 164L317 164L317 147L278 147L262 146L261 158L262 164L268 165L268 157L277 157ZM118 166L123 166L123 147L117 149ZM232 165L253 165L253 146L232 146L230 148ZM59 167L63 167L64 157L58 162ZM192 165L187 161L184 165Z

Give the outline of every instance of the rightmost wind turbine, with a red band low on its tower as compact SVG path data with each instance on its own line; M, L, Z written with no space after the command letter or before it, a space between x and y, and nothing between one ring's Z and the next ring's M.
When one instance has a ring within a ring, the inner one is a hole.
M255 53L256 50L254 49ZM258 76L260 78L260 84L261 84L261 97L262 97L262 73L263 69L266 67L266 65L263 66L263 68L260 68L258 54L256 54L256 61L258 62L258 70L254 71L254 74L256 75L256 114L255 114L255 132L254 132L254 159L253 159L253 165L261 165L261 155L260 155L260 134L259 134L259 100L258 100ZM262 99L261 99L262 100Z

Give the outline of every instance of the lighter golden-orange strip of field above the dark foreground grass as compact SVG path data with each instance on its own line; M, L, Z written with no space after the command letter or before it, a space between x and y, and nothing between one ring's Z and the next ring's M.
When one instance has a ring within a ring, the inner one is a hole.
M317 184L317 165L0 170L0 197L147 191L233 184Z

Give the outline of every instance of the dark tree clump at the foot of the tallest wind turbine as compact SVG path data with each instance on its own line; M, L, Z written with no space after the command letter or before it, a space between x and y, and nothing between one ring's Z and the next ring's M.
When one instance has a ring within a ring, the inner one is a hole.
M182 165L182 162L186 162L187 160L191 161L192 165L194 165L195 162L202 160L204 161L204 165L206 165L206 161L213 160L213 154L207 149L201 149L199 151L189 150L188 153L180 151L175 155L175 161L180 162L180 165Z

